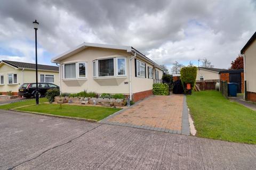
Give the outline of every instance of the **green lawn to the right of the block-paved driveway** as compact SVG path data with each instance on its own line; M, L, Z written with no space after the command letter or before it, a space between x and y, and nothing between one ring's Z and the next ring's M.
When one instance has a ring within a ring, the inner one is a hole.
M256 112L222 97L218 91L187 96L197 136L256 144Z

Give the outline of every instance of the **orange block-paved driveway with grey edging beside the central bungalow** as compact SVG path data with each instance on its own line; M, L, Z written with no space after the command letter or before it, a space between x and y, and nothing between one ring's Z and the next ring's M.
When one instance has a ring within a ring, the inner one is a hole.
M150 96L135 106L124 109L100 122L189 134L188 112L184 95Z

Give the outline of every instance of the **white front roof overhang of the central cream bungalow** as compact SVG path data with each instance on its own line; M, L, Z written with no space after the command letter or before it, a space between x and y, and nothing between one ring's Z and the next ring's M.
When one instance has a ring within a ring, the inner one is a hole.
M127 53L130 53L132 51L132 47L131 46L116 46L116 45L107 45L107 44L95 44L95 43L82 43L70 50L68 50L67 52L64 52L54 58L52 58L51 62L52 63L60 63L61 60L74 55L78 52L81 52L82 50L84 50L85 48L88 47L98 47L98 48L109 48L109 49L120 49L120 50L126 50Z

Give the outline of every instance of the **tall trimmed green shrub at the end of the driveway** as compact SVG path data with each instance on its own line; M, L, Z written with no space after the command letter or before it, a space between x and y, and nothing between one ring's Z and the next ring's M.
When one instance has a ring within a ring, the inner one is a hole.
M197 67L186 66L182 67L180 70L180 80L183 84L184 91L187 91L186 85L190 84L191 90L194 89L196 83Z

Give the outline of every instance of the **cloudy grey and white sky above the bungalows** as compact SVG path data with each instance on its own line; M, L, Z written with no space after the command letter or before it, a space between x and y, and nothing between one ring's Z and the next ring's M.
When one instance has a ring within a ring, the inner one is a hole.
M158 64L228 68L256 31L256 1L0 0L0 60L41 64L81 43L133 46Z

